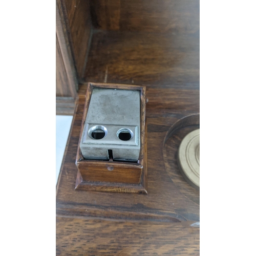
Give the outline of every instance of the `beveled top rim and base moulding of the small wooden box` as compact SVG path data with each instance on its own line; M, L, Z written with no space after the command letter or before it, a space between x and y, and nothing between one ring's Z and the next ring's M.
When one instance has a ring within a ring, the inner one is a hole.
M125 184L125 183L108 183L108 182L92 182L92 181L83 181L81 174L79 172L79 165L83 164L92 164L92 165L105 165L106 161L95 161L95 160L86 160L82 156L82 152L80 150L80 141L83 132L83 126L86 122L86 116L89 109L89 104L91 100L91 95L93 88L109 88L109 89L124 89L124 90L138 90L140 91L140 131L141 131L141 140L140 140L140 154L139 160L137 163L133 162L111 162L111 165L118 166L118 167L129 167L134 166L134 168L142 168L141 174L141 183L140 184ZM131 84L116 84L116 83L93 83L89 82L87 87L86 93L86 101L84 103L84 111L81 123L81 130L79 135L79 141L77 146L77 153L76 153L76 166L78 168L78 174L76 179L75 189L82 189L82 190L93 190L93 191L114 191L115 192L122 192L122 193L143 193L147 194L147 168L146 168L146 138L145 138L145 104L146 104L146 87L145 86L135 86ZM142 154L144 152L144 154ZM112 187L112 188L111 188ZM112 192L113 192L112 191Z

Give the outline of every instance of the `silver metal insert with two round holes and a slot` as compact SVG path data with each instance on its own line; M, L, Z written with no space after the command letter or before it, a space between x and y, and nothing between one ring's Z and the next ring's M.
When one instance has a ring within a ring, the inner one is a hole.
M94 88L80 149L84 159L138 161L140 91Z

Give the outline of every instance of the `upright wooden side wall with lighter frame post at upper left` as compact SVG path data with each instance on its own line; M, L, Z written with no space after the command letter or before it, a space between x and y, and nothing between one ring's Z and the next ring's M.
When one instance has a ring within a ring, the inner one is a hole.
M56 114L73 115L92 35L89 0L56 0Z

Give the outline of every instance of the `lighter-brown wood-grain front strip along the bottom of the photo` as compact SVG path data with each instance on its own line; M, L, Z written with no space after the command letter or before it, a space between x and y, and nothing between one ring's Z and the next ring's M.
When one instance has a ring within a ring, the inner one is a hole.
M57 218L56 255L199 255L193 222Z

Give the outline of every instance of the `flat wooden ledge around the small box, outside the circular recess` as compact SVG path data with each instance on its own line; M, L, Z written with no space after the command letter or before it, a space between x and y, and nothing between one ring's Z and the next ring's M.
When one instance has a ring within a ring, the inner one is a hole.
M165 136L170 127L183 117L198 113L199 91L164 89L169 99L161 97L159 89L152 88L148 91L146 95L149 100L146 110L148 195L84 192L74 189L77 176L76 151L85 102L85 95L79 94L65 163L57 184L58 215L100 218L112 216L130 220L199 221L199 200L195 202L187 198L173 182L166 169L165 162L168 158L164 158L163 155ZM154 101L161 102L161 105L154 104ZM176 102L176 107L172 102ZM177 152L177 145L173 146L175 146L173 150ZM180 179L183 179L181 174ZM197 196L199 197L199 194Z

